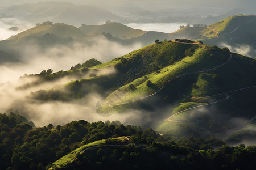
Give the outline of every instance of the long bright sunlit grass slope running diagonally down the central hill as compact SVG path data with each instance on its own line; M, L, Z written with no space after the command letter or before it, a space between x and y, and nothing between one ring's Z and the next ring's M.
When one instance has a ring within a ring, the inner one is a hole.
M161 53L161 52L159 52ZM190 73L194 71L200 71L204 69L209 69L211 67L220 65L222 63L220 57L209 58L209 51L207 49L198 48L196 52L191 57L185 57L180 61L174 63L173 65L164 67L163 69L158 70L157 72L146 75L148 80L155 84L155 86L159 89L164 86L164 83L168 82L175 76ZM159 73L160 72L160 73ZM121 97L123 101L133 101L137 100L140 97L150 95L157 91L158 89L152 89L146 86L146 82L139 84L136 87L135 91L129 90L130 84L138 84L138 82L142 81L144 77L134 80L133 82L126 84L125 86L119 88L119 90L114 91L112 94L108 96L106 100L113 100L115 95ZM207 86L203 82L199 82L199 85L203 88L203 86ZM129 91L126 91L125 89ZM196 92L195 92L196 94ZM198 93L197 93L198 94ZM118 103L117 103L118 104Z

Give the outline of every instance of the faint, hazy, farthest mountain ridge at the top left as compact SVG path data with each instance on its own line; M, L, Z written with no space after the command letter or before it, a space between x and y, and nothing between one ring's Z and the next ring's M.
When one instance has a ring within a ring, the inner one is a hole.
M8 11L10 11L10 17L25 18L35 24L45 22L46 20L64 22L71 25L80 25L81 23L98 24L106 20L119 19L119 16L112 14L112 12L96 6L73 5L68 2L55 1L13 5L8 8ZM17 12L19 15L15 15Z

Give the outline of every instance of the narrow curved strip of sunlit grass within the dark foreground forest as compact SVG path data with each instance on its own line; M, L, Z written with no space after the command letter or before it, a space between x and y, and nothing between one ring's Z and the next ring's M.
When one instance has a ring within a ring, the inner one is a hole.
M126 137L118 137L118 138L110 138L110 139L115 139L115 140L123 141L123 139L126 139ZM82 150L84 150L84 149L86 149L88 147L92 147L92 146L104 145L105 143L106 143L106 139L102 139L100 141L95 141L95 142L88 143L86 145L80 146L79 148L77 148L76 150L72 151L71 153L63 156L59 160L56 160L56 162L53 163L52 168L65 167L69 163L71 163L71 161L76 158L76 155L79 154Z

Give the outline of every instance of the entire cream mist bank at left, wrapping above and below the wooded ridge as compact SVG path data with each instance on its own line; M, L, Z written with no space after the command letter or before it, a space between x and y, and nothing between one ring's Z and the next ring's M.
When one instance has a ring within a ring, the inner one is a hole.
M141 48L141 44L120 45L117 42L108 41L105 37L91 40L93 45L74 43L72 47L57 45L42 50L40 45L26 45L18 48L21 62L9 62L0 65L0 113L8 109L18 110L20 114L33 121L36 126L45 126L49 123L65 124L74 120L120 120L126 122L132 114L102 118L95 112L95 105L102 97L98 94L90 94L86 99L79 101L36 101L30 99L31 92L47 90L55 86L61 86L76 80L72 76L57 79L56 81L43 82L38 86L25 89L17 89L23 84L35 81L36 77L19 79L24 74L38 74L42 70L52 69L69 70L77 63L84 63L86 60L95 58L107 62L111 59L127 54L132 50ZM113 74L114 70L99 70L97 74ZM86 74L87 75L87 74ZM86 76L85 75L85 76ZM1 84L2 83L2 84ZM8 113L7 113L8 114ZM134 114L134 113L133 113Z

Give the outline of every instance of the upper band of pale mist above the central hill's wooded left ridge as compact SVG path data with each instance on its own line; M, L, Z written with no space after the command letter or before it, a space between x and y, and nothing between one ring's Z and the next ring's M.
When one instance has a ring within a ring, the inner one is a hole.
M36 74L42 70L69 70L77 63L95 58L102 63L120 57L132 50L141 48L141 44L121 45L108 41L105 37L93 39L93 45L86 46L75 42L70 46L56 45L42 50L37 45L24 45L18 50L21 62L0 64L0 83L17 80L24 74Z

